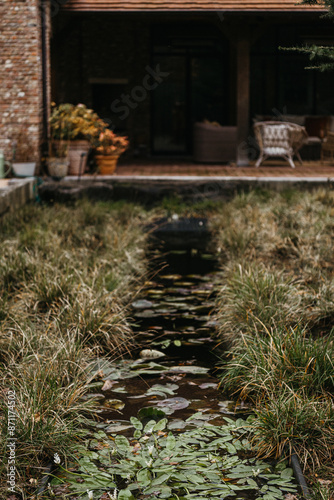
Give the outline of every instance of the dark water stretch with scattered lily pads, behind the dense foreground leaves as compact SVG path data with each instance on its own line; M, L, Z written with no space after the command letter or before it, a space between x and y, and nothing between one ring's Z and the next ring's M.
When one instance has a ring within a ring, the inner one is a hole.
M215 256L197 250L157 250L150 260L156 274L132 305L140 346L133 359L119 360L116 370L108 364L100 367L109 381L103 391L108 425L101 427L118 429L149 407L162 410L171 422L201 411L219 425L224 415L234 414L236 405L223 400L215 376ZM108 406L113 409L108 411Z

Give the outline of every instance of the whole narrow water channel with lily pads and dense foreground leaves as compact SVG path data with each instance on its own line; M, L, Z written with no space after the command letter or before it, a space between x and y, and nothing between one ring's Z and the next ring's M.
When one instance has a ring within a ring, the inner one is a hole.
M92 368L99 422L64 476L71 498L284 500L292 470L253 457L246 409L218 387L215 256L153 249L150 262L132 304L138 347Z

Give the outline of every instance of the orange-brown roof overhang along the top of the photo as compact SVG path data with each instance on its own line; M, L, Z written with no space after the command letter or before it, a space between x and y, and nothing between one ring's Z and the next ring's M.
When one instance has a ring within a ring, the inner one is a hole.
M63 10L80 12L326 12L296 0L68 0Z

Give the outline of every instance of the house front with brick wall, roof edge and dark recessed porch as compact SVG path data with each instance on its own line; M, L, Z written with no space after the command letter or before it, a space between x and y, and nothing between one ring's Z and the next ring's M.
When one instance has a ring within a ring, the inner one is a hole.
M280 47L332 43L331 21L295 0L5 0L0 149L18 130L35 155L51 100L85 103L130 138L133 156L193 153L207 120L237 127L238 162L256 116L333 115L333 74Z

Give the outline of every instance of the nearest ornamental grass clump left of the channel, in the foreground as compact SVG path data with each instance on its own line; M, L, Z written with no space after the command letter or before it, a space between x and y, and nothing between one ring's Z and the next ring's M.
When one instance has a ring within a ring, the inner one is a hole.
M45 327L47 327L45 325ZM6 456L8 412L6 395L15 394L17 491L27 498L29 480L61 452L71 454L92 401L82 400L89 380L85 373L89 353L69 332L45 331L38 323L12 323L1 329L1 453ZM0 466L4 479L6 461ZM2 481L2 486L5 486ZM0 494L1 494L0 488Z

